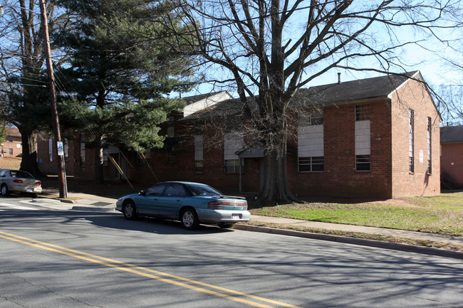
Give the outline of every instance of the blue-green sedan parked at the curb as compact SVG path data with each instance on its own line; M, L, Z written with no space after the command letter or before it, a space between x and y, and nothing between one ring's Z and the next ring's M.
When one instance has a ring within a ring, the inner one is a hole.
M211 186L178 181L155 184L116 202L116 210L129 220L138 216L167 218L180 221L187 230L198 228L199 223L231 228L234 223L249 221L247 209L244 197L224 196Z

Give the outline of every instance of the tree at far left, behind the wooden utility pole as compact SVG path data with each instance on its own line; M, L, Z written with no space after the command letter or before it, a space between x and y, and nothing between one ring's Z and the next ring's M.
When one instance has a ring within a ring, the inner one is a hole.
M51 123L51 108L43 70L43 29L36 0L0 1L1 120L18 127L22 137L21 169L40 174L36 134ZM47 7L49 28L66 16L55 17Z

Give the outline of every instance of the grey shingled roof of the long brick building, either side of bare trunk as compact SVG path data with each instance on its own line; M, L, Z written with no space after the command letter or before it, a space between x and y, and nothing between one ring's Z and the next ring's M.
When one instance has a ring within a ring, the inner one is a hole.
M400 87L410 78L422 80L420 71L406 73L405 75L385 75L375 78L333 83L331 85L318 85L299 89L291 100L290 106L299 107L310 105L340 104L356 100L373 99L375 97L387 97L397 87ZM237 115L242 111L242 103L239 99L224 100L214 106L199 110L182 120L197 120L209 117L224 117Z

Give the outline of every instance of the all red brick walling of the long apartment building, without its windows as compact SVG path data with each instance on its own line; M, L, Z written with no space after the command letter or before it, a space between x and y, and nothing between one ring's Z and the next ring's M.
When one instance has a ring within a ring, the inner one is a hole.
M367 103L367 102L363 102ZM296 117L290 117L287 170L289 186L299 196L331 195L374 198L436 195L439 189L439 115L420 83L410 81L397 95L370 101L370 171L355 171L355 104L324 109L324 171L298 172ZM408 172L408 110L415 110L415 172ZM180 120L177 115L176 120ZM427 174L427 118L432 119L432 174ZM224 193L239 190L239 174L224 172L224 141L217 124L204 125L204 172L194 170L194 124L175 122L175 161L167 162L167 149L151 152L150 164L139 164L135 153L128 158L130 181L149 186L157 181L197 181ZM165 127L160 134L166 134ZM246 138L245 138L246 140ZM246 140L251 142L252 140ZM76 141L75 141L76 142ZM48 147L47 147L48 149ZM73 149L76 178L94 178L93 150L86 149L86 164L79 166L78 141ZM420 151L423 161L420 162ZM259 191L261 159L245 159L243 191Z

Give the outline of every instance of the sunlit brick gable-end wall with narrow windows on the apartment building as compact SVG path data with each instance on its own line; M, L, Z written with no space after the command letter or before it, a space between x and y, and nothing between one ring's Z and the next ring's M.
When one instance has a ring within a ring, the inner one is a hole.
M414 172L409 172L409 110L414 111ZM427 119L432 121L432 172L427 174ZM439 115L425 87L409 80L392 97L392 197L440 193ZM420 161L422 153L422 161Z

